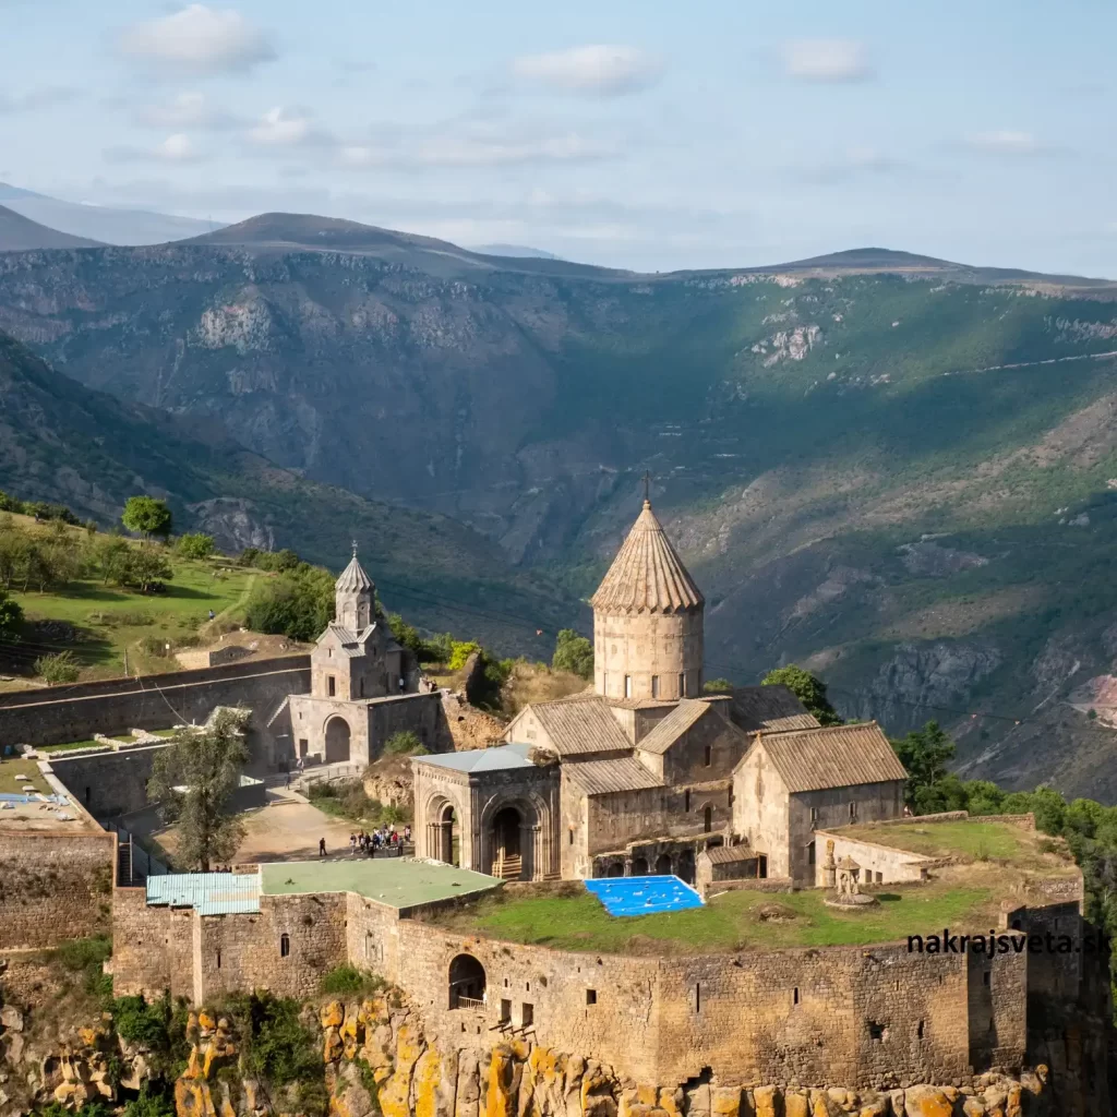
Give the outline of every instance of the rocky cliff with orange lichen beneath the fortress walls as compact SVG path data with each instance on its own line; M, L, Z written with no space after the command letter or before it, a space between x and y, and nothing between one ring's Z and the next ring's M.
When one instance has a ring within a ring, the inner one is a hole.
M189 1057L173 1083L176 1117L1086 1117L1049 1085L1046 1067L1020 1078L983 1075L963 1086L916 1085L887 1094L794 1083L638 1083L576 1053L525 1040L455 1050L427 1034L399 997L333 1001L304 1011L321 1034L322 1085L276 1087L245 1073L230 1021L204 1011L185 1027ZM55 1101L122 1104L154 1079L151 1052L125 1043L111 1019L71 1025L48 1049L22 1040L23 1013L0 1015L4 1072L0 1113ZM316 1083L317 1085L317 1083ZM309 1100L313 1097L313 1101Z

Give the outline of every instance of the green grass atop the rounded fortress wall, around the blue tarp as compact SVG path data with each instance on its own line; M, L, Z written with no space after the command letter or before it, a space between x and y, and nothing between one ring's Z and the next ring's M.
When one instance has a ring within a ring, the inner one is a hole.
M528 895L508 890L468 909L436 917L455 930L564 951L701 954L718 951L837 946L906 939L943 927L994 926L994 881L967 886L895 886L880 906L846 913L828 908L820 890L735 891L703 908L617 918L591 895Z

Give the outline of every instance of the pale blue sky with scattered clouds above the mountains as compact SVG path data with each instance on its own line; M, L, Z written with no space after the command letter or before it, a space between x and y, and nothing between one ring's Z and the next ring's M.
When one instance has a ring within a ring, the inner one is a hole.
M0 0L0 181L646 271L1117 277L1113 0Z

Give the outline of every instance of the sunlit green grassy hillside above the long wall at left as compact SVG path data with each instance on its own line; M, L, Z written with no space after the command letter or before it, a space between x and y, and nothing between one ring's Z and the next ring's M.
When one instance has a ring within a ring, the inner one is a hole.
M122 675L124 650L128 668L146 674L174 670L173 657L143 652L137 642L155 637L172 646L198 634L212 609L218 617L239 620L248 591L259 572L222 567L219 577L207 562L171 557L173 579L164 592L143 594L102 585L99 579L71 582L61 592L12 593L29 621L58 620L74 624L82 639L69 647L83 666L83 678ZM45 640L54 646L57 641Z

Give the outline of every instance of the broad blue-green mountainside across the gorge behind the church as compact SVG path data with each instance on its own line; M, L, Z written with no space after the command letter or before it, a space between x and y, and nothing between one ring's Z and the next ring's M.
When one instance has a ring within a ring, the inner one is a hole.
M410 509L381 531L470 525L487 590L435 608L461 634L499 617L497 650L592 590L648 469L706 593L710 675L802 662L849 716L939 718L972 775L1117 801L1089 697L1117 676L1114 283L880 248L647 276L268 213L7 252L0 328L284 484ZM349 513L308 507L242 529L321 553ZM548 612L524 586L552 577Z

